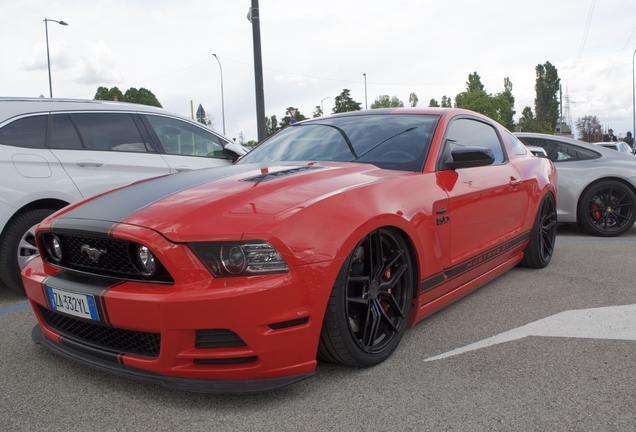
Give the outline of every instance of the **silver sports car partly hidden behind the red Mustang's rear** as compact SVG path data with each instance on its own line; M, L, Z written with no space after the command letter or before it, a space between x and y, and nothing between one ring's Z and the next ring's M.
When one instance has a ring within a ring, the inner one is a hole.
M515 133L543 147L559 174L557 219L593 235L617 236L636 220L636 158L557 135Z

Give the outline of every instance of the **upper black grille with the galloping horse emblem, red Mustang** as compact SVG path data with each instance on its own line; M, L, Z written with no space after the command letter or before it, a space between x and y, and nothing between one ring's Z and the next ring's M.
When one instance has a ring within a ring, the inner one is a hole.
M59 233L57 236L62 242L64 251L62 261L56 263L51 259L47 260L58 267L119 279L174 282L170 274L162 266L159 266L160 270L157 274L150 277L145 276L135 267L132 260L132 251L137 246L136 243L113 238L63 233ZM86 253L86 248L98 251L98 259L91 259L89 254Z

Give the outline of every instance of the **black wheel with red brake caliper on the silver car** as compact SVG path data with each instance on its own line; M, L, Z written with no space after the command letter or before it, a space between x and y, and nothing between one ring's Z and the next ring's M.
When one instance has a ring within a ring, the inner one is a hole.
M586 190L579 201L579 224L590 234L614 237L636 220L636 196L625 184L604 180Z

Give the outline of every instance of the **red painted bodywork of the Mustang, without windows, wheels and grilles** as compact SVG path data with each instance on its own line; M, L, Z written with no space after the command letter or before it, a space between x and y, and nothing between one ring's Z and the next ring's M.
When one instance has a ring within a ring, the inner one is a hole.
M157 374L142 379L176 388L226 392L288 384L314 372L334 281L367 233L390 226L408 239L418 275L408 319L412 327L517 265L542 197L546 193L556 196L552 164L529 153L515 155L503 133L509 163L480 167L479 176L471 169L437 170L438 152L453 118L469 116L494 123L461 110L411 113L441 116L423 172L305 162L214 169L209 178L202 173L178 174L61 210L39 226L38 245L44 250L40 234L62 225L70 229L74 223L81 231L86 215L100 214L97 219L108 226L105 235L141 243L163 264L173 283L121 280L94 291L100 325L161 335L156 358L121 353L115 359L119 365ZM274 181L245 181L305 168L310 169ZM201 180L186 182L195 175ZM173 186L177 181L184 186ZM162 191L165 185L172 189ZM135 195L147 188L156 197ZM121 204L117 200L122 197L137 197L138 202ZM289 271L217 278L188 246L191 242L251 239L269 242ZM68 273L42 259L34 259L23 271L26 293L43 335L36 338L34 330L34 340L54 350L61 350L58 344L65 342L80 349L43 317L43 311L51 308L48 286L72 292L85 288L78 287L75 276ZM230 330L244 345L198 348L197 331L205 329ZM94 354L89 348L82 349L87 355ZM106 370L100 365L93 366ZM272 379L282 381L268 381ZM214 384L206 388L206 381ZM242 387L241 382L250 384Z

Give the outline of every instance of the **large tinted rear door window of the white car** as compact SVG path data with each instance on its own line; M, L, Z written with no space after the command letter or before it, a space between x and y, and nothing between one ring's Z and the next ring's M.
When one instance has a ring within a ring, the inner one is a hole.
M130 114L77 113L73 120L88 150L146 152Z

